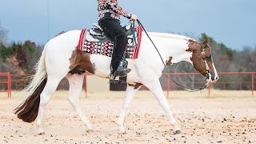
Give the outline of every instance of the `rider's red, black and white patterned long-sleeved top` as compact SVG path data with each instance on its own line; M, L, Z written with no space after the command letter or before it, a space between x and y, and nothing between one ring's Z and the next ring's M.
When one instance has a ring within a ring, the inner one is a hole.
M120 15L131 18L131 14L118 6L118 0L98 0L98 19L114 18L120 21Z

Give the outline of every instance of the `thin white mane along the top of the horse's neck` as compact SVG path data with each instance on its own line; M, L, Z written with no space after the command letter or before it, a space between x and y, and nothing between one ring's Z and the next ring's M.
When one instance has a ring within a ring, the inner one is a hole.
M194 38L190 38L184 35L178 35L178 34L170 34L170 33L155 33L155 32L149 32L151 36L157 36L162 38L177 38L177 39L184 39L186 41L192 40L194 42L198 42Z

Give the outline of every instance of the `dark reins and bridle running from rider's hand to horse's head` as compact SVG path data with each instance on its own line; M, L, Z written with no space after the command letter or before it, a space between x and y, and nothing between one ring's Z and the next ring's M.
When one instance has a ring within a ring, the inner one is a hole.
M142 26L142 22L140 22L138 19L137 19L137 22L138 22L138 25L139 25L139 26ZM160 52L159 52L157 46L155 46L154 42L153 42L152 39L150 38L150 35L147 34L147 32L146 32L144 26L142 26L142 29L144 30L146 36L150 39L150 42L151 42L152 45L154 46L154 49L157 50L158 55L159 55L159 57L160 57L161 60L162 60L162 63L163 63L163 65L164 65L164 70L165 70L165 69L166 69L166 63L164 62L164 60L163 60L163 58L162 58L162 56L161 56L161 54L160 54ZM209 45L207 44L207 46L209 46ZM210 46L209 46L209 47L210 47ZM202 49L202 54L205 53L205 50L206 50L206 49ZM211 55L210 55L210 57L211 57ZM180 87L182 90L186 90L186 91L189 91L189 92L196 92L196 91L204 90L207 86L209 86L209 83L210 83L210 81L211 81L211 73L210 73L210 68L209 68L209 66L208 66L208 64L207 64L207 62L206 62L207 57L204 57L203 59L204 59L204 62L205 62L205 64L206 64L206 78L207 78L207 82L206 82L205 86L202 86L202 87L199 87L199 88L190 88L190 87L186 87L186 86L183 86L183 85L179 84L179 83L176 82L176 81L174 80L174 78L172 78L171 76L168 77L166 74L165 74L165 76L166 76L166 78L169 78L170 81L174 82L174 83L175 83L178 87Z

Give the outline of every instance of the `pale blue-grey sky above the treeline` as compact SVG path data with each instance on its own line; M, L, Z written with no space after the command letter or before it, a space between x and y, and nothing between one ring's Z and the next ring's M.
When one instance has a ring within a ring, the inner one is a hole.
M0 26L10 42L44 45L62 30L89 28L98 20L96 0L48 1L0 0ZM255 0L119 0L119 5L137 14L148 31L193 37L205 32L236 50L256 46Z

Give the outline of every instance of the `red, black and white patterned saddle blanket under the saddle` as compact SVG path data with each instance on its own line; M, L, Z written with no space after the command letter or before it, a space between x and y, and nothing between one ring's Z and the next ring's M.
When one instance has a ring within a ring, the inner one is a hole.
M138 52L142 40L142 26L135 26L134 28L136 41L134 42L134 36L132 34L127 36L128 44L126 46L126 58L138 58ZM89 34L89 31L83 29L78 42L78 50L90 54L101 54L112 57L114 42L110 40L106 42L90 42L90 40L86 39L86 34ZM136 46L134 46L134 43Z

